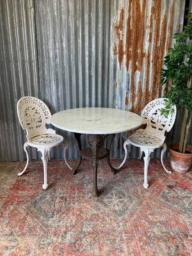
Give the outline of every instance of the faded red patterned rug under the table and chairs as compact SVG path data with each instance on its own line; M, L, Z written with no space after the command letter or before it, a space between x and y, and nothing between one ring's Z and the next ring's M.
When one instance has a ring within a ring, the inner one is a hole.
M42 161L30 161L19 177L24 164L0 190L0 255L192 255L191 170L169 175L159 159L151 159L144 189L143 160L129 159L113 175L104 159L102 194L92 198L90 161L75 176L63 160L49 161L47 190ZM165 164L170 167L168 159Z

